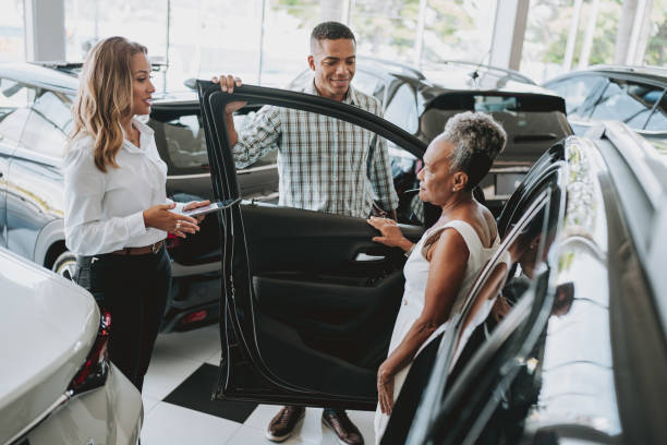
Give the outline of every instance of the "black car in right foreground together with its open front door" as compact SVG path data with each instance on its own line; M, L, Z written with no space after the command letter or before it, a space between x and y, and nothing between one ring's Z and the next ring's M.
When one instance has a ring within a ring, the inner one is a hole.
M425 149L390 122L322 97L198 88L217 200L240 196L221 112L231 100L357 125L416 158ZM415 359L383 443L664 443L666 177L622 124L551 144L501 208L501 250L452 328ZM372 242L363 218L246 201L219 221L225 315L214 397L374 410L402 252ZM432 221L401 229L417 240ZM527 234L537 242L526 263L510 256L511 268L498 268ZM511 309L480 312L485 304L474 303L493 303L500 289Z

